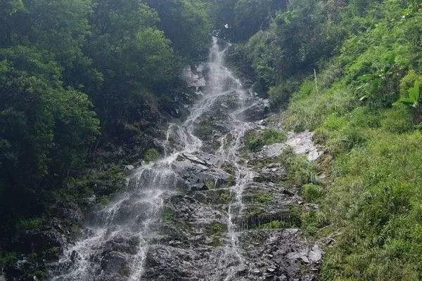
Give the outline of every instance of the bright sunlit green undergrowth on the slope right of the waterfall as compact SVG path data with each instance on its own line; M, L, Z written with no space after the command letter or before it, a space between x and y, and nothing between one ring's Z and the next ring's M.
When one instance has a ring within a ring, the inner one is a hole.
M301 185L304 200L319 204L301 215L305 233L334 239L323 281L422 280L422 64L410 36L421 38L422 12L395 1L375 6L378 18L365 20L377 23L347 39L321 73L342 75L318 90L303 82L284 122L315 131L332 157L316 166L324 183Z

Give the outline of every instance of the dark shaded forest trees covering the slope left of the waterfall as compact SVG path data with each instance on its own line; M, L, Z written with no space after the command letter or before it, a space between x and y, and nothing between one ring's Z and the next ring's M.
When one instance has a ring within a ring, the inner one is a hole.
M84 176L89 160L98 144L132 142L125 137L184 103L181 69L207 51L208 8L196 0L0 1L0 267L19 226L38 226L25 222L45 221L53 202L93 193L101 201L117 188L113 178L107 188L107 176L97 185L103 174Z

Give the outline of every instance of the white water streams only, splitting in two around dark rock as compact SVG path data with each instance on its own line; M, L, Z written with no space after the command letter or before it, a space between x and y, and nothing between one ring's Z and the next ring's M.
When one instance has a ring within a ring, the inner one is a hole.
M231 132L220 138L222 145L215 154L220 164L230 162L234 166L236 184L230 188L231 202L226 218L229 239L223 245L222 256L216 265L220 268L219 273L210 280L236 280L236 272L245 267L239 242L242 226L237 218L244 209L243 189L252 181L252 171L241 164L238 152L243 136L254 128L255 124L241 120L240 112L245 109L245 101L250 100L250 96L243 89L241 82L224 66L225 51L226 48L220 48L217 39L214 38L210 48L210 60L206 64L209 70L207 87L203 96L191 108L186 121L182 124L170 124L167 138L163 142L165 157L137 169L128 179L127 190L94 214L96 219L89 226L89 235L65 251L59 261L60 266L52 274L51 280L101 280L101 276L106 274L99 269L103 262L103 250L106 244L120 240L129 240L136 244L136 252L117 253L122 259L131 261L127 280L142 280L148 248L160 235L158 226L164 204L163 198L177 192L180 181L172 166L180 155L195 155L201 152L203 141L194 134L198 120L209 113L216 103L220 103L222 96L229 95L234 95L240 106L234 112L230 112Z

